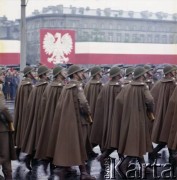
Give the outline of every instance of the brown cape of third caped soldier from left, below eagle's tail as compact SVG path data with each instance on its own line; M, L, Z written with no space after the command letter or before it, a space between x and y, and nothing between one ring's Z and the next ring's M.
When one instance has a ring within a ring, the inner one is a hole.
M50 135L54 133L51 130L54 112L56 105L59 101L63 86L63 82L54 80L46 87L44 91L42 97L42 107L44 107L45 110L43 111L44 116L41 124L41 132L35 154L35 158L37 159L45 159L47 157L48 144L50 144ZM51 141L53 142L53 138L51 138ZM53 146L54 144L51 143L49 148L52 148Z

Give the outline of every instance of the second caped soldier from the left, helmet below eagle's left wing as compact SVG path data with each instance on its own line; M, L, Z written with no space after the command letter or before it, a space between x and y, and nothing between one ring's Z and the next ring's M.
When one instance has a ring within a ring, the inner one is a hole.
M26 113L25 121L27 123L25 135L22 144L22 152L27 153L25 157L26 167L31 170L32 165L36 165L36 161L33 159L35 156L37 144L39 141L39 134L42 124L43 107L41 106L42 96L45 88L48 85L47 73L49 69L46 66L40 66L38 69L38 76L40 80L35 84L35 87L30 93L28 98L28 112Z

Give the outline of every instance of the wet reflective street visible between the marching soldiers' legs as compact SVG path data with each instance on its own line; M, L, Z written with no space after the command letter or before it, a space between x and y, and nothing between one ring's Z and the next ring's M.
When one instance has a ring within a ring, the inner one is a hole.
M8 101L7 106L9 107L10 112L13 114L14 102L13 101ZM98 147L94 148L94 151L97 152L97 153L100 153ZM21 159L23 159L24 154L21 154L20 157L21 157ZM100 163L96 159L88 161L87 162L87 170L88 170L88 172L90 172L90 174L93 175L94 177L96 177L96 179L98 179L98 180L122 179L118 175L118 172L115 170L115 166L116 166L116 164L118 162L117 153L116 152L112 153L111 157L112 157L111 161L106 161L105 162L105 166L106 166L105 171L101 170ZM116 159L116 160L114 160L114 159ZM147 156L145 156L145 160L147 162ZM162 173L162 172L164 170L169 169L169 166L165 166L165 162L168 162L167 149L164 149L163 151L161 151L161 159L158 160L158 164L161 164L162 167L157 168L156 177L164 175L164 173ZM112 165L110 165L110 163ZM50 175L49 167L48 167L48 173L46 175L44 173L42 165L40 163L31 172L26 169L23 162L13 161L12 162L12 168L13 168L13 179L16 179L16 180L35 180L35 179L39 179L39 180L47 180L47 179L49 179L49 180L57 180L57 179L59 179L57 174ZM77 175L74 176L74 177L68 177L68 178L66 178L66 180L67 179L68 180L79 180L79 178L80 178L79 169L77 167L74 167L74 168L77 169ZM2 175L1 170L0 170L0 175ZM170 175L170 173L166 173L165 177L167 177L169 175ZM0 176L0 180L1 179L2 179L2 176ZM137 179L137 178L132 178L132 179ZM151 173L151 174L147 175L147 177L144 178L144 179L153 179L153 174ZM159 177L158 179L163 179L163 178ZM166 178L166 179L172 179L172 177L169 177L169 178ZM174 178L174 179L176 179L176 178Z

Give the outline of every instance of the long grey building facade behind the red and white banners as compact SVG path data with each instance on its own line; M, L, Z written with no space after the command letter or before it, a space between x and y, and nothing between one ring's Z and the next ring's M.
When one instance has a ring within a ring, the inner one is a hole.
M19 38L17 24L4 28L0 24L0 38ZM49 6L27 17L29 63L40 59L42 28L75 30L76 42L177 44L177 14Z

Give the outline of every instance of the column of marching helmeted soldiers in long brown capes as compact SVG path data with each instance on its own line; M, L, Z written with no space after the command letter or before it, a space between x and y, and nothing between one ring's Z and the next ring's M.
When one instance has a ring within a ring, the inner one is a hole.
M176 66L166 65L164 77L156 83L148 65L127 68L124 78L122 70L113 66L105 85L99 66L90 70L91 78L86 84L87 70L77 65L70 66L67 73L66 69L55 67L50 83L49 69L41 66L39 81L34 86L32 71L31 67L24 69L14 119L17 158L22 161L20 152L26 153L23 161L29 170L40 161L45 173L50 164L50 172L65 179L75 176L73 166L78 166L80 179L95 179L87 172L86 162L97 157L104 169L105 159L116 150L120 160L118 171L126 178L130 162L136 159L141 165L148 153L149 162L153 163L165 146L169 162L176 166ZM9 135L9 131L2 132ZM101 150L99 156L93 151L97 145ZM3 165L2 153L0 149ZM10 158L7 162L10 169ZM8 169L4 165L3 168ZM147 170L152 173L150 168Z

